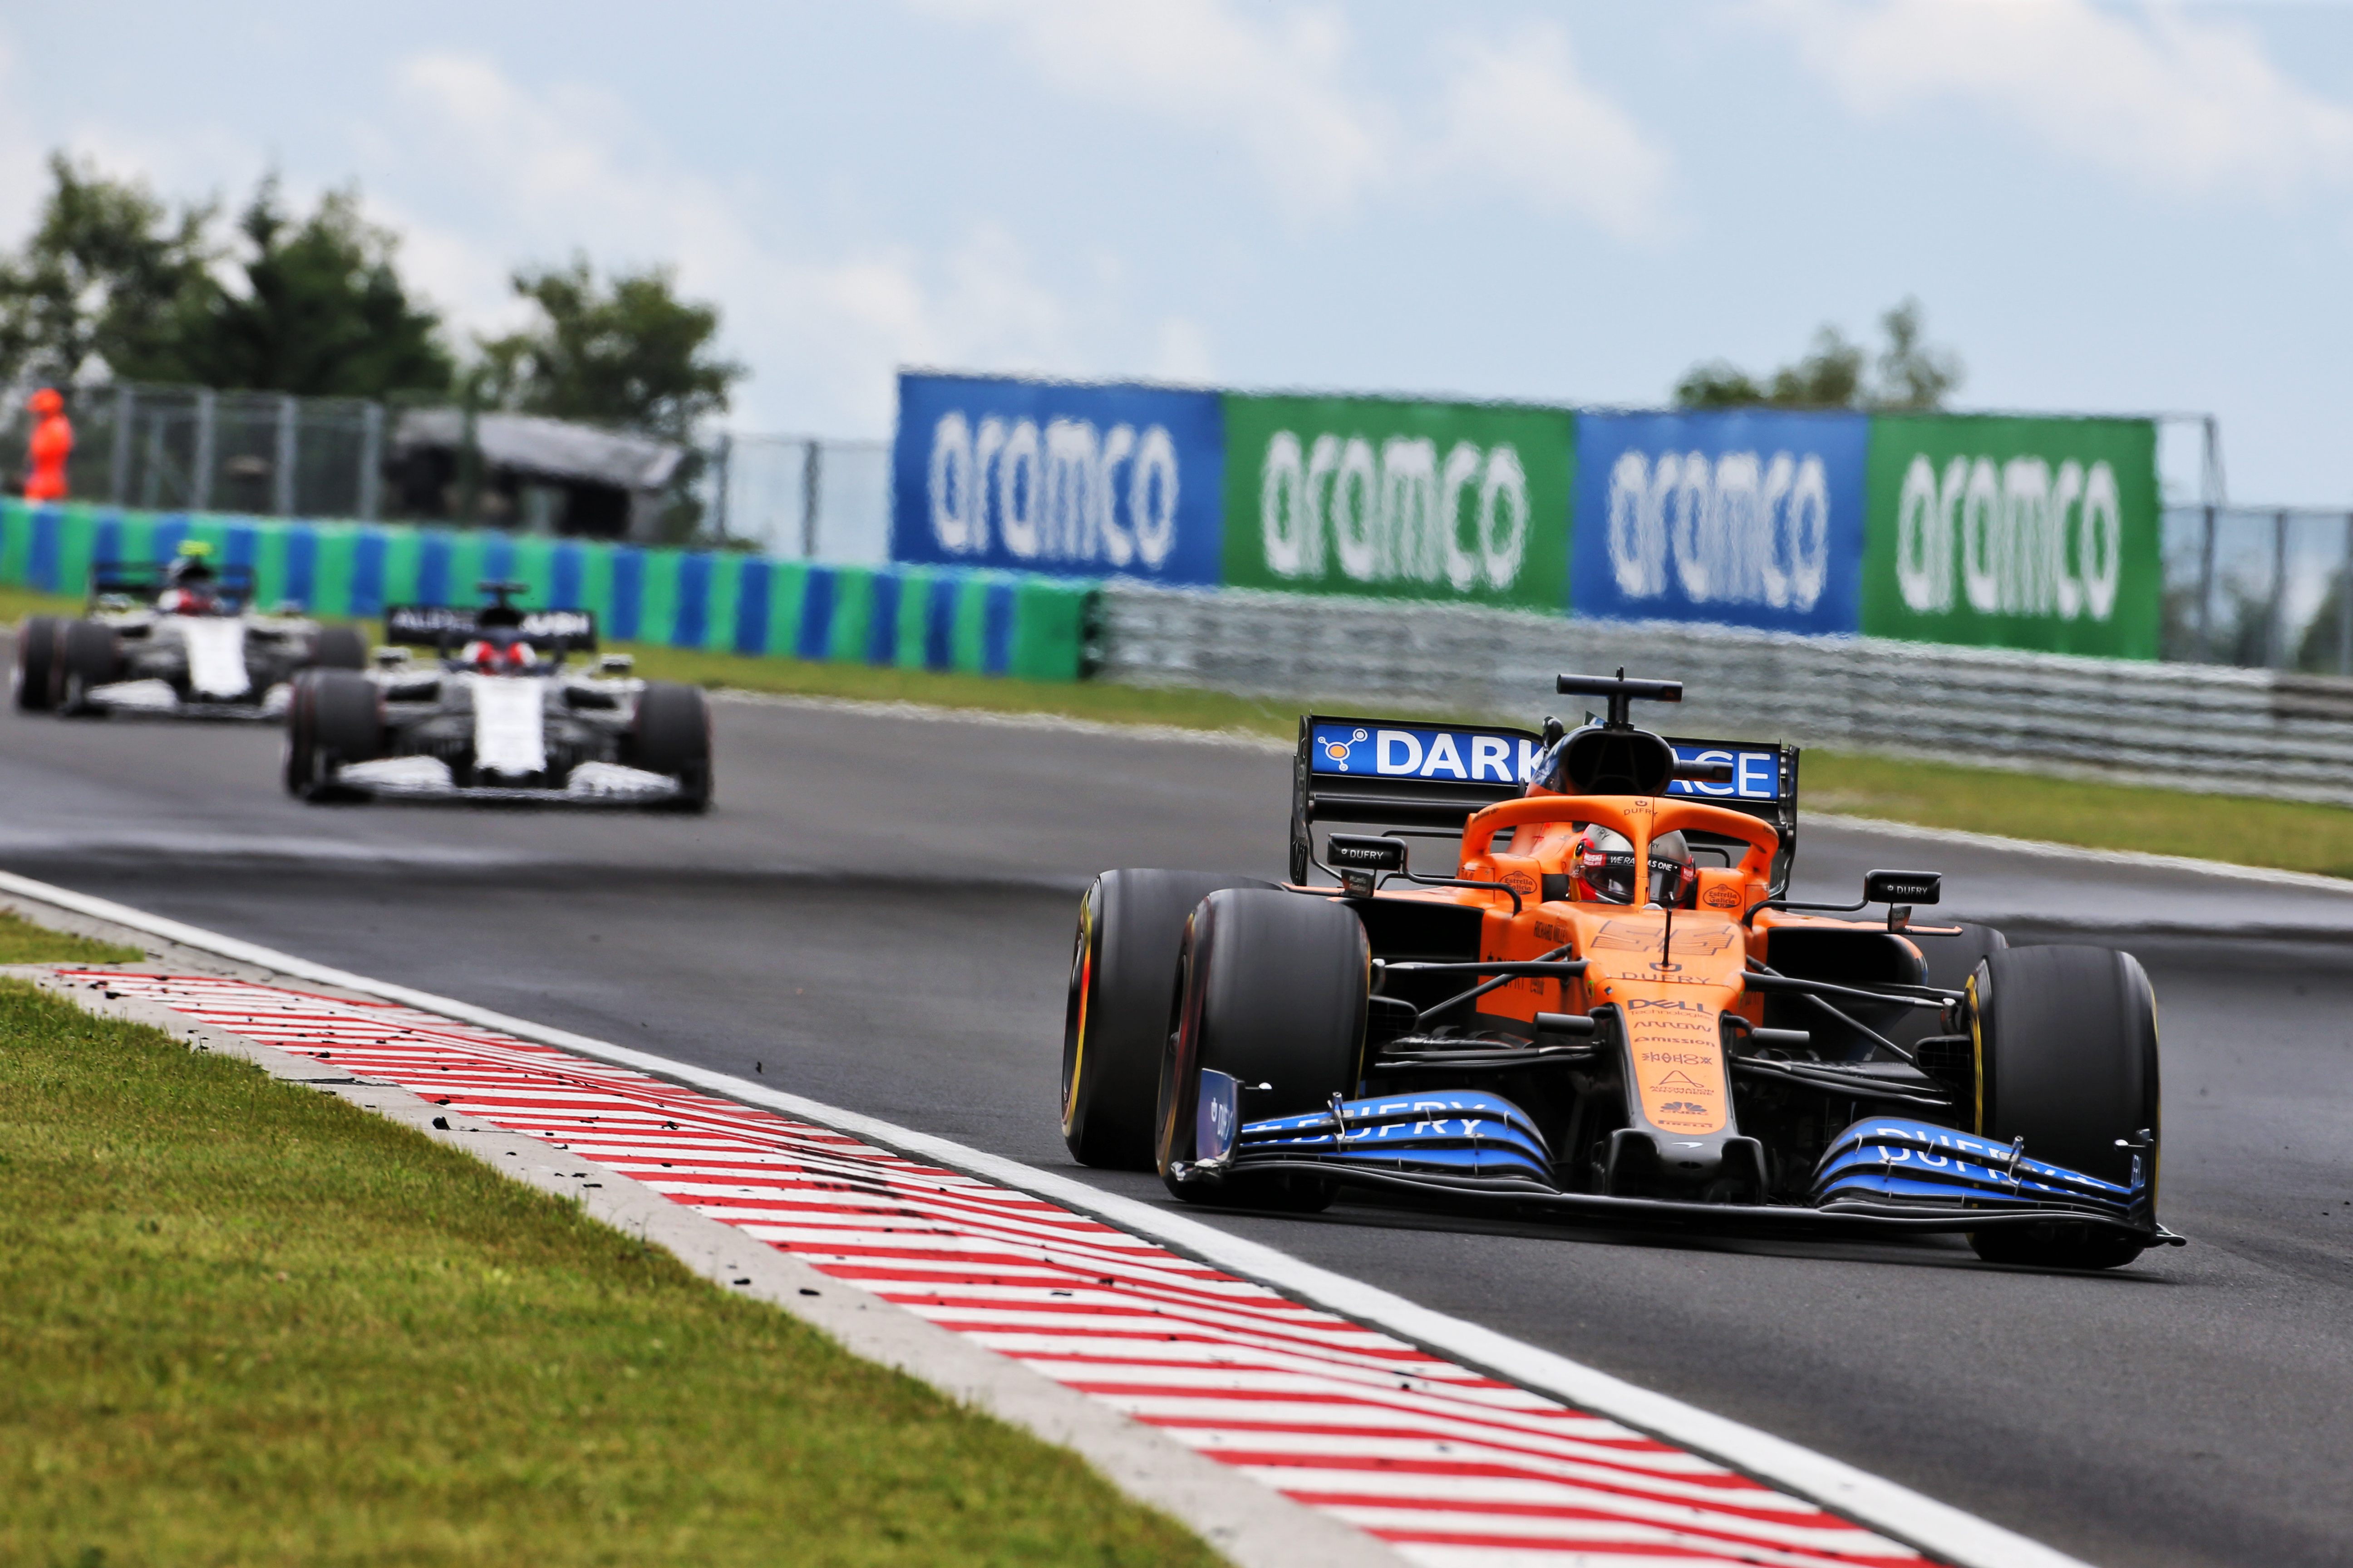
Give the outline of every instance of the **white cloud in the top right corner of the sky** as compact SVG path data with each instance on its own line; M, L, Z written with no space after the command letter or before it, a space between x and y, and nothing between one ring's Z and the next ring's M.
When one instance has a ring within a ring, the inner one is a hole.
M1767 0L1861 115L1977 103L2144 186L2282 197L2353 172L2353 108L2294 82L2245 26L2087 0Z

